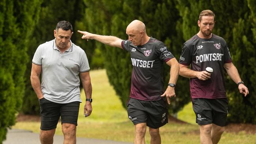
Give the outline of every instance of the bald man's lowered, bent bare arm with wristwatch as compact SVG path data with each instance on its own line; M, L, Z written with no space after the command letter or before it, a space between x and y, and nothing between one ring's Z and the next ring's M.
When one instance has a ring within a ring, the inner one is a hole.
M179 64L175 58L170 59L166 62L167 65L171 66L170 70L170 80L169 83L174 83L176 85L179 76ZM168 104L170 104L171 97L176 97L174 87L168 86L165 92L161 96L166 96Z

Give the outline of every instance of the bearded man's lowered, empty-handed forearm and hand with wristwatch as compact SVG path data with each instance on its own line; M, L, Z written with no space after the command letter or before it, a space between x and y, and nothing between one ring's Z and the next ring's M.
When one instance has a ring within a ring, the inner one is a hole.
M242 81L240 76L239 76L239 73L237 71L236 66L232 62L231 63L225 63L224 68L226 69L226 71L228 73L228 76L230 76L230 78L235 83L239 83L240 81ZM245 96L247 96L247 94L249 94L249 90L244 84L238 85L238 89L239 89L239 92L241 94L244 94Z

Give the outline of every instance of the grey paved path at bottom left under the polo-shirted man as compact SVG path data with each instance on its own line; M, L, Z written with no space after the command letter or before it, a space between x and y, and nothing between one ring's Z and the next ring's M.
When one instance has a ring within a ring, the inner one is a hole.
M54 135L54 144L63 144L62 135ZM3 144L40 144L39 133L32 131L11 129L8 130ZM112 140L98 140L93 138L76 138L76 144L132 144L130 142L116 142Z

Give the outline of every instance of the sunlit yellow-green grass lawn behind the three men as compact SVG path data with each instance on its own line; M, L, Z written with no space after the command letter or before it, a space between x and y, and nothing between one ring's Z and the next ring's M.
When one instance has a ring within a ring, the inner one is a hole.
M93 85L93 113L85 118L82 101L78 117L77 137L98 138L116 141L133 142L134 125L128 119L126 110L122 107L119 97L108 83L105 70L90 72ZM178 118L190 124L170 122L160 128L162 144L199 144L198 126L195 124L195 114L189 103L178 113ZM27 129L39 133L40 122L17 122L13 129ZM62 135L61 124L56 129L56 135ZM150 143L150 136L146 134L146 143ZM256 134L223 133L219 144L256 144Z

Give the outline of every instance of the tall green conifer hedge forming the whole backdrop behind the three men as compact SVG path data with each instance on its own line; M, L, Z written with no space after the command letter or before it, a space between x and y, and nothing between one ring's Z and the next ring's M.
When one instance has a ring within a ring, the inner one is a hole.
M91 69L105 68L109 82L126 108L132 65L128 52L96 41L84 41L77 30L128 39L126 26L143 21L148 35L165 42L179 59L182 45L195 35L204 9L215 12L213 33L229 45L233 63L249 88L245 98L226 74L229 122L256 124L256 0L1 0L0 1L0 142L18 112L39 114L30 84L32 58L39 44L54 39L60 20L74 30L71 41L82 47ZM165 87L169 80L165 65ZM169 113L190 102L189 79L179 76Z

